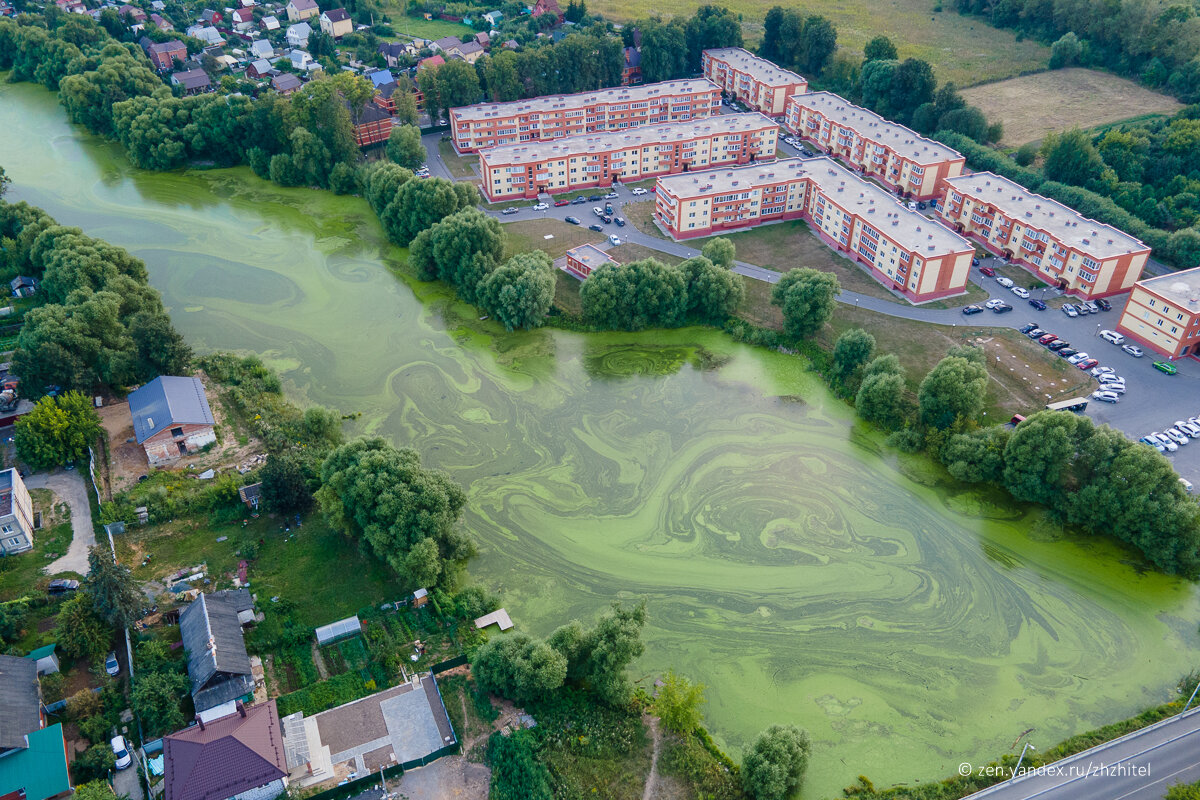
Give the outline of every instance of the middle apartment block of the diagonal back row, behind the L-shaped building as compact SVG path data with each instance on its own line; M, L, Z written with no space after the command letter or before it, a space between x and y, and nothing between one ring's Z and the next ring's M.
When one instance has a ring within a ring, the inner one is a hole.
M788 97L784 126L904 197L920 200L936 197L942 179L961 175L966 162L958 150L828 91Z

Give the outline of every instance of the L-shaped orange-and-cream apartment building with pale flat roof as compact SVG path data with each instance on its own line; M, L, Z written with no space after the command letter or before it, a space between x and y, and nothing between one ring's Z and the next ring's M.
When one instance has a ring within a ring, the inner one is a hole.
M912 302L962 294L974 247L832 158L660 178L654 217L673 239L804 218Z

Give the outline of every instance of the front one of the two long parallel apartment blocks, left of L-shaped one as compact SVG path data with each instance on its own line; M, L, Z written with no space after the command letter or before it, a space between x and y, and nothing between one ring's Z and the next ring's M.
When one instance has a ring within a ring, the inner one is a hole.
M488 148L479 154L492 203L617 181L775 158L779 126L762 114L719 114L695 122L572 136Z

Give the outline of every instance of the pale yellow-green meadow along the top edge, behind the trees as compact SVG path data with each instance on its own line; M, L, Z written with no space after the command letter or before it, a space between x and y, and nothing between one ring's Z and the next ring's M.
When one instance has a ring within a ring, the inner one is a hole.
M652 14L690 17L700 0L594 0L588 10L617 22ZM762 38L762 20L776 0L748 0L731 7L743 16L748 43ZM1010 31L953 11L934 12L930 0L812 0L804 14L821 14L838 28L842 50L862 55L863 46L876 36L888 36L900 58L917 58L934 66L938 82L970 86L1040 70L1050 61L1050 48L1031 40L1018 42Z

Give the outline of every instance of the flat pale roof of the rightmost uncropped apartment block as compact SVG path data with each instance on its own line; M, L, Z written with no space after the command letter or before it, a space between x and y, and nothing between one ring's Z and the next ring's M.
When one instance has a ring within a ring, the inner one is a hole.
M1022 225L1044 230L1063 245L1092 258L1105 259L1150 249L1140 240L1079 211L1034 194L1020 184L995 173L973 173L948 178L952 188L994 205Z

